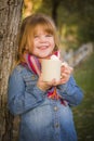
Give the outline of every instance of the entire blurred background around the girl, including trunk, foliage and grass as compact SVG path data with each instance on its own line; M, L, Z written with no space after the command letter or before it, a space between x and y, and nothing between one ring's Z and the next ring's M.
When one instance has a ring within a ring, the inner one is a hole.
M78 141L94 141L94 0L0 0L0 141L17 141L19 118L8 110L8 79L18 24L32 13L51 16L57 27L63 60L84 93L72 107Z

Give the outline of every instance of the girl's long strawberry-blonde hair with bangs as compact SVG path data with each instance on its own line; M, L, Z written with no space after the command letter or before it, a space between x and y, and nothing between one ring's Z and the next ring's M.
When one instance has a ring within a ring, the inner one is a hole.
M28 51L29 53L31 53L31 50L33 48L32 39L37 26L43 28L45 33L53 35L55 41L54 51L58 50L58 37L54 22L44 14L32 14L24 18L21 26L21 30L18 34L17 63L22 62L26 47L28 47Z

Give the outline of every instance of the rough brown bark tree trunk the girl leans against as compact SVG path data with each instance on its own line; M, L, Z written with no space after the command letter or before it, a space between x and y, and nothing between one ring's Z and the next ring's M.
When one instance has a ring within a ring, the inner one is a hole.
M12 69L23 0L0 0L0 141L14 141L13 116L8 110L8 80Z

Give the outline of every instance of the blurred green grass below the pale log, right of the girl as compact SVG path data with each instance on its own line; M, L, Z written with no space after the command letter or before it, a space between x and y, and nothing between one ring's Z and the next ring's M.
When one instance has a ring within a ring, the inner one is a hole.
M84 99L73 107L79 141L94 141L94 53L75 69L77 84L82 88Z

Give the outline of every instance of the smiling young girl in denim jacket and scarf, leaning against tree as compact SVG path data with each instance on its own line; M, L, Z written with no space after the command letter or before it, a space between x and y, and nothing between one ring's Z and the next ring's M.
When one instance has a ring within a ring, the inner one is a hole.
M19 141L77 141L71 106L83 94L66 63L59 81L43 81L41 61L53 54L58 56L53 21L42 14L26 17L19 31L17 65L9 79L9 108L21 116Z

